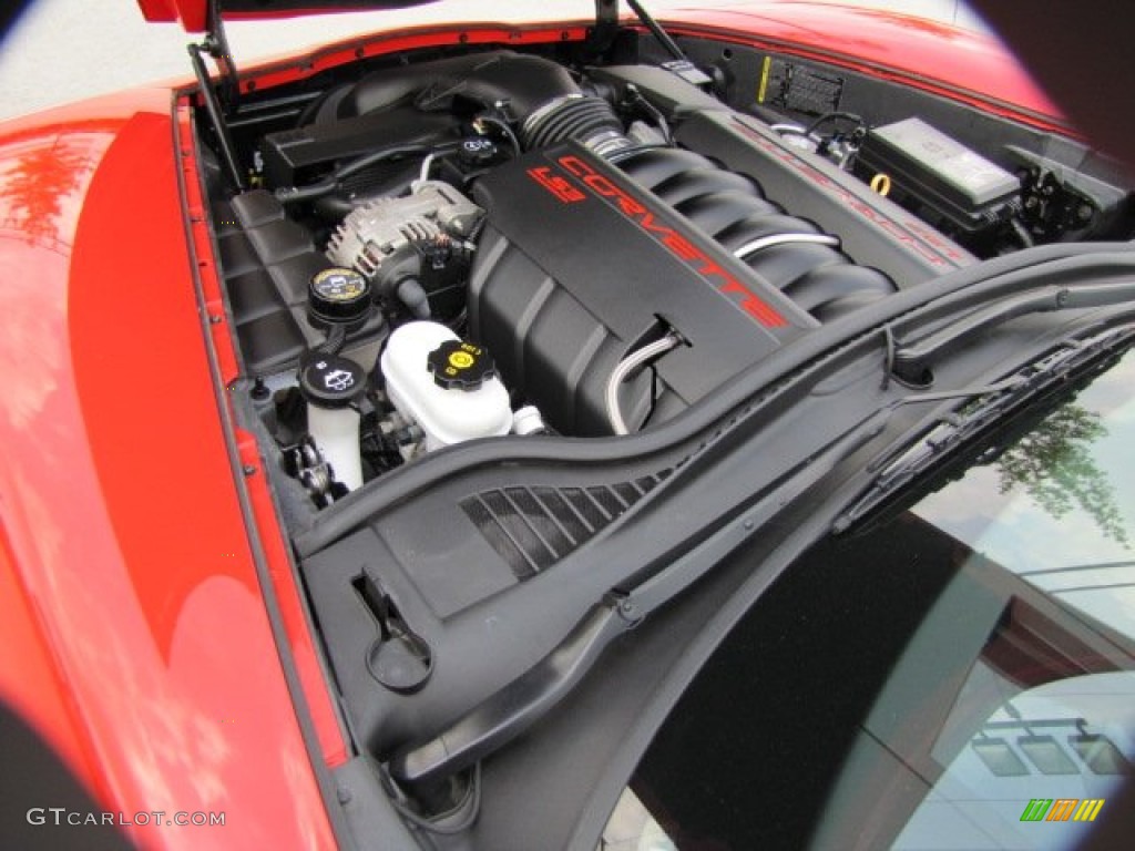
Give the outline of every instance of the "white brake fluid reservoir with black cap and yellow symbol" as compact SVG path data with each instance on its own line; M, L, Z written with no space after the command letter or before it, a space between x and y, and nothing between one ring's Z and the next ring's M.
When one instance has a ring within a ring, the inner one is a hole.
M390 402L426 432L428 452L512 428L508 391L493 359L444 325L410 322L395 330L381 370Z

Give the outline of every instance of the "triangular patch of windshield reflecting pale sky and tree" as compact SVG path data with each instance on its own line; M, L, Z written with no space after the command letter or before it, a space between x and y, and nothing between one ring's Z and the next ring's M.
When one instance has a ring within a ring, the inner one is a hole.
M915 513L1063 603L1135 637L1135 361L1127 357Z

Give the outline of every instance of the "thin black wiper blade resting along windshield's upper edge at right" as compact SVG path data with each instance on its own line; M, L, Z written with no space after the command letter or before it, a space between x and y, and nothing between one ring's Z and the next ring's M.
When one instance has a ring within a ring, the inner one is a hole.
M1111 328L1084 340L1066 340L1054 352L995 384L940 393L913 393L896 401L892 403L893 407L951 398L962 401L962 405L942 416L922 437L885 449L868 464L868 472L874 473L869 490L835 519L832 531L836 534L846 531L894 492L997 424L1011 411L1043 395L1053 386L1066 382L1074 373L1081 373L1091 364L1099 363L1102 357L1123 349L1133 339L1135 326Z

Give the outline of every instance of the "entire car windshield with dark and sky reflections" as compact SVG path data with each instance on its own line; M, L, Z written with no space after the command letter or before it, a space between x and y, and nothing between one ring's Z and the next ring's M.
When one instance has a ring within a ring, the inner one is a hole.
M1075 848L1135 759L1135 354L816 545L678 702L606 849Z

